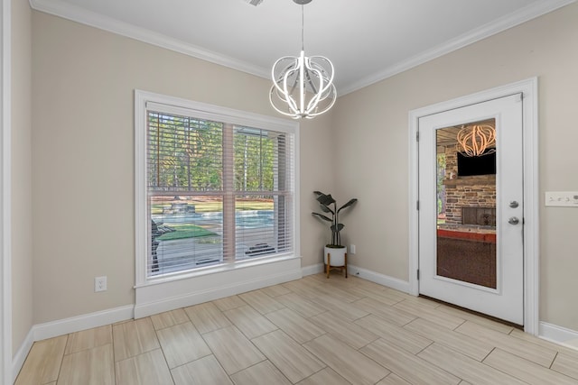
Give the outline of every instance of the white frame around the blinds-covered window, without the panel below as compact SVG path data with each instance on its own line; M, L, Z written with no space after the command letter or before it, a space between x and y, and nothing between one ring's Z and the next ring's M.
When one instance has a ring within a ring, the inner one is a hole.
M185 270L181 273L171 273L158 277L147 275L147 260L149 248L148 186L147 186L147 111L162 107L163 112L175 115L194 115L195 118L206 119L226 124L262 128L293 135L293 232L292 252L255 260L228 261L219 265ZM191 114L192 113L192 114ZM218 273L227 270L255 266L258 264L299 258L299 124L294 121L256 115L234 110L219 105L209 105L174 96L164 96L135 89L135 287L147 286L172 280L182 280L200 275Z

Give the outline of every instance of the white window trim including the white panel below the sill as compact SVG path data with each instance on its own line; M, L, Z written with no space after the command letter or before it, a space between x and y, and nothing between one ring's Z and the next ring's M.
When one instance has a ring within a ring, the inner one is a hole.
M149 106L154 105L154 103L162 104L164 110L166 110L166 105L171 105L171 109L173 108L177 114L179 114L179 112L182 114L183 109L186 109L187 113L191 114L192 110L196 117L203 119L222 121L223 116L226 116L227 123L230 124L260 126L270 130L294 134L294 252L276 257L255 259L254 261L238 261L236 263L200 268L172 277L146 277L146 258L144 258L144 256L146 256L148 252L148 243L146 215L146 130L144 127L146 127L146 106L147 104ZM219 298L215 297L219 296L219 293L231 295L228 293L235 291L236 280L238 280L238 288L245 290L247 288L256 289L261 283L264 284L263 286L266 286L284 280L301 278L299 169L299 124L297 122L135 89L135 317L154 314L152 312L155 311L165 311L172 306L179 307L182 303L187 302L187 300L183 302L183 298L189 298L188 301L191 302L205 298ZM258 275L256 273L252 274L251 270L257 268L259 269ZM235 273L235 271L238 272ZM215 277L215 275L219 274L227 275L227 280L220 280L219 277ZM231 277L231 274L237 274L238 277ZM264 277L263 274L268 276ZM214 282L214 285L210 285L209 288L206 286L202 288L202 291L206 295L202 296L199 292L191 292L191 290L197 290L192 289L195 285L187 285L185 282L188 280L204 280L205 276L212 276L213 280L211 280L211 282ZM276 277L276 279L272 282L271 277ZM184 282L177 283L177 281ZM247 282L250 282L250 284L247 285ZM227 287L227 289L223 291L225 287ZM164 291L164 294L153 293L153 290ZM166 298L168 302L160 304L164 302L163 298ZM181 299L174 301L174 298ZM172 305L169 305L169 302L171 302ZM153 303L158 306L152 305Z

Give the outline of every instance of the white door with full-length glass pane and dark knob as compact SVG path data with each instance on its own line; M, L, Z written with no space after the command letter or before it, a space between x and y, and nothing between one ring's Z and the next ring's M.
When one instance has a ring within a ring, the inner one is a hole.
M517 94L418 122L419 293L517 325L524 323L522 113Z

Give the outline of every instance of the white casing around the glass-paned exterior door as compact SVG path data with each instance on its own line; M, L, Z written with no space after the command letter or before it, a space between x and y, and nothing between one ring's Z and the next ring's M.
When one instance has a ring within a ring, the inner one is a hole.
M538 334L538 105L537 78L528 78L409 112L409 292L419 295L419 118L522 93L524 164L524 331Z

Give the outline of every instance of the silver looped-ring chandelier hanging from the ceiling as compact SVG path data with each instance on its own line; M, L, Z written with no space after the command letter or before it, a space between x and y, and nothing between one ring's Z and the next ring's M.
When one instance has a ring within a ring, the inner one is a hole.
M271 70L273 86L269 101L275 110L294 119L312 119L327 112L337 98L333 85L333 64L322 56L305 56L303 49L303 5L312 0L294 0L301 7L301 53L275 61Z

